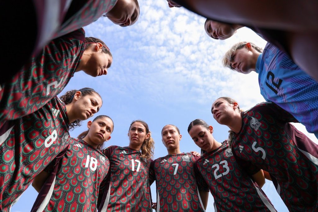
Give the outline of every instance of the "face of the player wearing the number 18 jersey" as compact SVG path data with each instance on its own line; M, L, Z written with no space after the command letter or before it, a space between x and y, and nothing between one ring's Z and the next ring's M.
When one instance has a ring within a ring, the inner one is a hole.
M110 134L113 132L113 122L107 117L102 117L93 122L89 121L87 127L89 128L87 136L95 145L102 144L104 141L109 140Z

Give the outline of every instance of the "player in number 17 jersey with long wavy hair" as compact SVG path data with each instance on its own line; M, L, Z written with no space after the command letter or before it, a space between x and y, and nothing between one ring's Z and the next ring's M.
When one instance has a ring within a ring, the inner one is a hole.
M129 146L110 146L102 150L110 161L109 176L100 187L98 211L152 211L149 167L154 140L148 124L135 120L130 124Z

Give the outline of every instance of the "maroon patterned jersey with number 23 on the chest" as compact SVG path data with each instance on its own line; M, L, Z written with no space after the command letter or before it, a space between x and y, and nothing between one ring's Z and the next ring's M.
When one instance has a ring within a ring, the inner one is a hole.
M214 197L215 211L276 211L250 177L260 169L240 163L226 142L203 154L197 160L196 168L200 173L198 181L206 184Z

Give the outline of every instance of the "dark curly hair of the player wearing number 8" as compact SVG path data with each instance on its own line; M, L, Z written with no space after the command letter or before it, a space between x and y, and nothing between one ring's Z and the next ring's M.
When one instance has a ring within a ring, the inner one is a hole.
M93 88L81 88L79 90L71 90L71 91L65 92L64 95L60 96L60 99L66 105L71 104L75 93L78 91L81 92L82 96L93 95L95 93L97 93L100 96L100 94L98 92L96 92ZM100 99L101 99L101 96L100 96ZM70 123L69 130L73 130L75 127L81 126L81 122L82 122L82 120L79 120L79 119L73 121L72 123Z

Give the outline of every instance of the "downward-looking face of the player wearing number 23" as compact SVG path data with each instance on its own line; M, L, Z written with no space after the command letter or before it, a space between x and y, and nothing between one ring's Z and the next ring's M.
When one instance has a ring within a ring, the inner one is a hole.
M191 136L194 143L205 151L212 151L215 148L214 138L212 136L213 128L210 126L209 129L203 127L202 125L195 125L189 131L189 135Z

